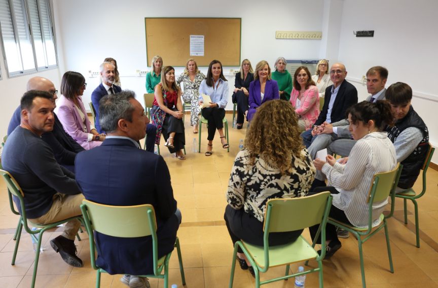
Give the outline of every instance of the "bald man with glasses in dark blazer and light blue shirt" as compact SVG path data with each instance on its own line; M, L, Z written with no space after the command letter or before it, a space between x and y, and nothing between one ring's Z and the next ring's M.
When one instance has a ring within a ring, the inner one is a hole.
M345 80L347 70L344 64L335 63L330 69L330 79L333 85L325 89L324 106L315 121L313 129L301 133L306 148L309 148L315 136L318 135L318 129L321 124L333 123L345 119L347 109L357 103L356 88Z

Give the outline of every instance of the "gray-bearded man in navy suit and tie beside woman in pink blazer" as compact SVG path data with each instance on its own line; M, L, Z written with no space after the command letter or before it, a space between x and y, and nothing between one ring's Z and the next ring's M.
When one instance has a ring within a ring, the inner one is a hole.
M94 126L99 134L105 133L104 129L100 126L100 99L105 95L116 94L122 91L122 88L114 85L116 79L115 69L116 66L111 62L103 62L100 64L100 77L102 77L102 83L94 89L93 93L91 93L91 102L93 103L94 110L96 110L96 122ZM157 128L154 125L148 124L146 126L146 134L148 135L146 138L146 150L149 152L154 152L156 133Z

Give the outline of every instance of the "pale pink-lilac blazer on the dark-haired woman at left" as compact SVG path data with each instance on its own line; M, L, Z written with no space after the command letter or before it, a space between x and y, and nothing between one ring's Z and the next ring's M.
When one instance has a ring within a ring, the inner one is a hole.
M81 109L82 113L85 114L85 127L87 127L87 131L90 129L90 120L88 119L87 112L85 111L84 103L82 103L82 97L78 96L79 109ZM84 131L81 116L79 115L78 110L76 109L75 103L71 100L61 95L56 102L55 112L61 121L62 126L64 127L65 132L71 136L71 138L75 139L76 142L79 143L84 149L90 150L91 148L100 146L102 144L101 141L90 141L88 142L88 134Z

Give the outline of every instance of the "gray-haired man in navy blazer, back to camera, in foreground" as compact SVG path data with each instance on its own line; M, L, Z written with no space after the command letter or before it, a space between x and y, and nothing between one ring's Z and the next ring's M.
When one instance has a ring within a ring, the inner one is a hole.
M157 218L158 258L173 250L179 210L163 157L139 149L148 117L132 91L100 100L100 125L108 133L102 145L76 157L76 180L85 198L107 205L152 204ZM99 179L99 181L96 181ZM178 216L175 215L178 213ZM97 265L109 274L153 273L152 238L119 238L96 233ZM125 275L131 287L147 279Z

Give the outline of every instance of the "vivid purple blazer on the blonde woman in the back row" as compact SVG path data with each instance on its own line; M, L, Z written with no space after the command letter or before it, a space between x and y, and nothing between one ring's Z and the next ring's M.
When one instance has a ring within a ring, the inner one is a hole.
M249 84L249 110L247 114L247 120L251 121L257 108L263 103L269 100L280 99L280 93L278 92L278 84L275 80L267 80L265 85L265 96L260 95L260 80L255 79Z

